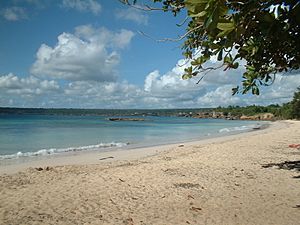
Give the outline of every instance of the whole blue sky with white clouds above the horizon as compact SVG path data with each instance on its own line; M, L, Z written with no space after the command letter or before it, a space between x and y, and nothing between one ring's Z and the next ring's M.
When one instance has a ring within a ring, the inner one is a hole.
M140 1L148 2L149 1ZM300 72L260 96L231 95L243 68L182 80L185 33L173 17L118 0L0 0L0 107L204 108L282 104ZM209 65L216 65L212 59Z

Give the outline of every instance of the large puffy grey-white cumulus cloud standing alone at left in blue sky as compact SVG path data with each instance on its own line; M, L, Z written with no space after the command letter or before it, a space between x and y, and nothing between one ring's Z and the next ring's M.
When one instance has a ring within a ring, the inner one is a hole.
M31 67L38 77L71 81L115 81L120 61L119 50L128 46L134 33L112 32L90 25L79 26L75 33L62 33L52 48L43 44Z

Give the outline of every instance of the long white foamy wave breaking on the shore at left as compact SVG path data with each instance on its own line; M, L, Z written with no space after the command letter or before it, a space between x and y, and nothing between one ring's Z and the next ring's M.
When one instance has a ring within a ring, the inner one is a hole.
M45 156L45 155L53 155L63 152L78 152L78 151L87 151L87 150L97 150L99 148L113 148L113 147L124 147L129 143L100 143L96 145L87 145L87 146L79 146L79 147L69 147L69 148L49 148L49 149L41 149L35 152L17 152L11 155L0 155L0 160L4 159L17 159L23 157L33 157L33 156Z

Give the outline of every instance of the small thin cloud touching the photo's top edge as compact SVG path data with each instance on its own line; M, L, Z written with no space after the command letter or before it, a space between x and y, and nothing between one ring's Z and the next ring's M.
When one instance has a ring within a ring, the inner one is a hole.
M101 11L101 5L95 0L63 0L62 7L76 9L79 12L92 12L94 15Z

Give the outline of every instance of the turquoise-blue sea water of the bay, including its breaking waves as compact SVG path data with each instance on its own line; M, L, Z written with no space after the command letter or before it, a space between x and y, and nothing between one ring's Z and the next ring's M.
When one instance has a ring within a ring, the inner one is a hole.
M177 143L243 132L255 121L146 116L145 121L106 116L0 115L0 160L68 151ZM140 118L140 117L139 117Z

